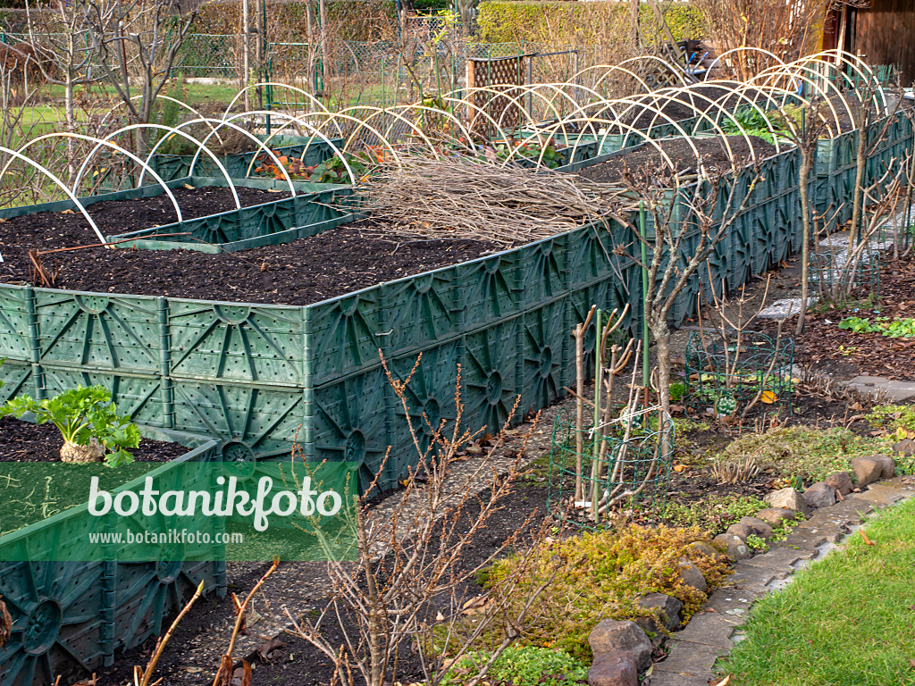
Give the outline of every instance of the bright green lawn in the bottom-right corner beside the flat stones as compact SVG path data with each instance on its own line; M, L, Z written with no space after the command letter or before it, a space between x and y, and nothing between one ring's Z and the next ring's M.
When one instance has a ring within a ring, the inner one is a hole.
M915 684L915 499L754 606L718 668L738 686Z

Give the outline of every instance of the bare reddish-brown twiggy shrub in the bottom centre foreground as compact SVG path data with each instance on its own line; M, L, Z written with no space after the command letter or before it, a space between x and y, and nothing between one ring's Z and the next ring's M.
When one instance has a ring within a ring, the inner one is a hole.
M356 510L358 562L328 563L331 594L327 606L314 620L291 617L296 633L333 661L336 679L343 686L358 682L383 686L397 681L402 651L411 646L419 651L425 681L436 684L447 666L463 657L475 641L498 632L501 638L490 659L463 681L468 686L478 684L501 652L536 619L536 598L552 579L546 570L545 578L532 581L531 552L521 553L516 571L486 591L474 584L477 574L498 556L545 538L545 523L537 526L531 513L495 550L482 556L474 551L488 522L514 489L536 421L504 473L500 474L490 457L501 447L506 427L492 439L489 455L481 456L469 469L457 469L464 448L480 437L480 432L461 428L460 370L454 423L433 424L424 415L425 426L417 426L411 419L414 412L408 406L406 389L419 361L399 381L382 359L404 409L418 464L410 470L406 487L388 513L368 505L367 498L375 488L371 485ZM420 439L424 430L429 435L425 448ZM341 632L343 645L331 643L328 631Z

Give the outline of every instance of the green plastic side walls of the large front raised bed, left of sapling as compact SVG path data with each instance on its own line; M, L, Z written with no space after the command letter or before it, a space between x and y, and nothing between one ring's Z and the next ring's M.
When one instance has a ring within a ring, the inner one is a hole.
M570 295L631 273L610 253L622 239L587 227L304 307L5 285L0 374L8 395L101 383L123 412L219 437L231 458L287 455L301 425L307 458L349 456L368 478L395 445L390 485L412 456L379 348L394 369L424 354L430 415L449 416L458 362L468 425L507 419L525 380L525 402L551 402L572 364Z

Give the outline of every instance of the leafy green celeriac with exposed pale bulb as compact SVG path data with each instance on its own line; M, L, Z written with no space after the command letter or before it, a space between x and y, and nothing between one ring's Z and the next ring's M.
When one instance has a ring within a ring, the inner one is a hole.
M111 393L102 386L77 386L53 398L36 401L27 395L11 400L0 414L21 418L33 413L39 424L53 423L63 436L63 462L100 462L108 466L134 461L128 448L140 445L140 430L127 417L119 416Z

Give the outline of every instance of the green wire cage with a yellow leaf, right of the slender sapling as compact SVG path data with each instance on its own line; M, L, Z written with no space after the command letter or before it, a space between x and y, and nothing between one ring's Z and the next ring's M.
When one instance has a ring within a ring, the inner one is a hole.
M759 413L791 413L799 380L791 376L791 338L753 331L719 334L694 331L686 342L684 406L716 418Z

